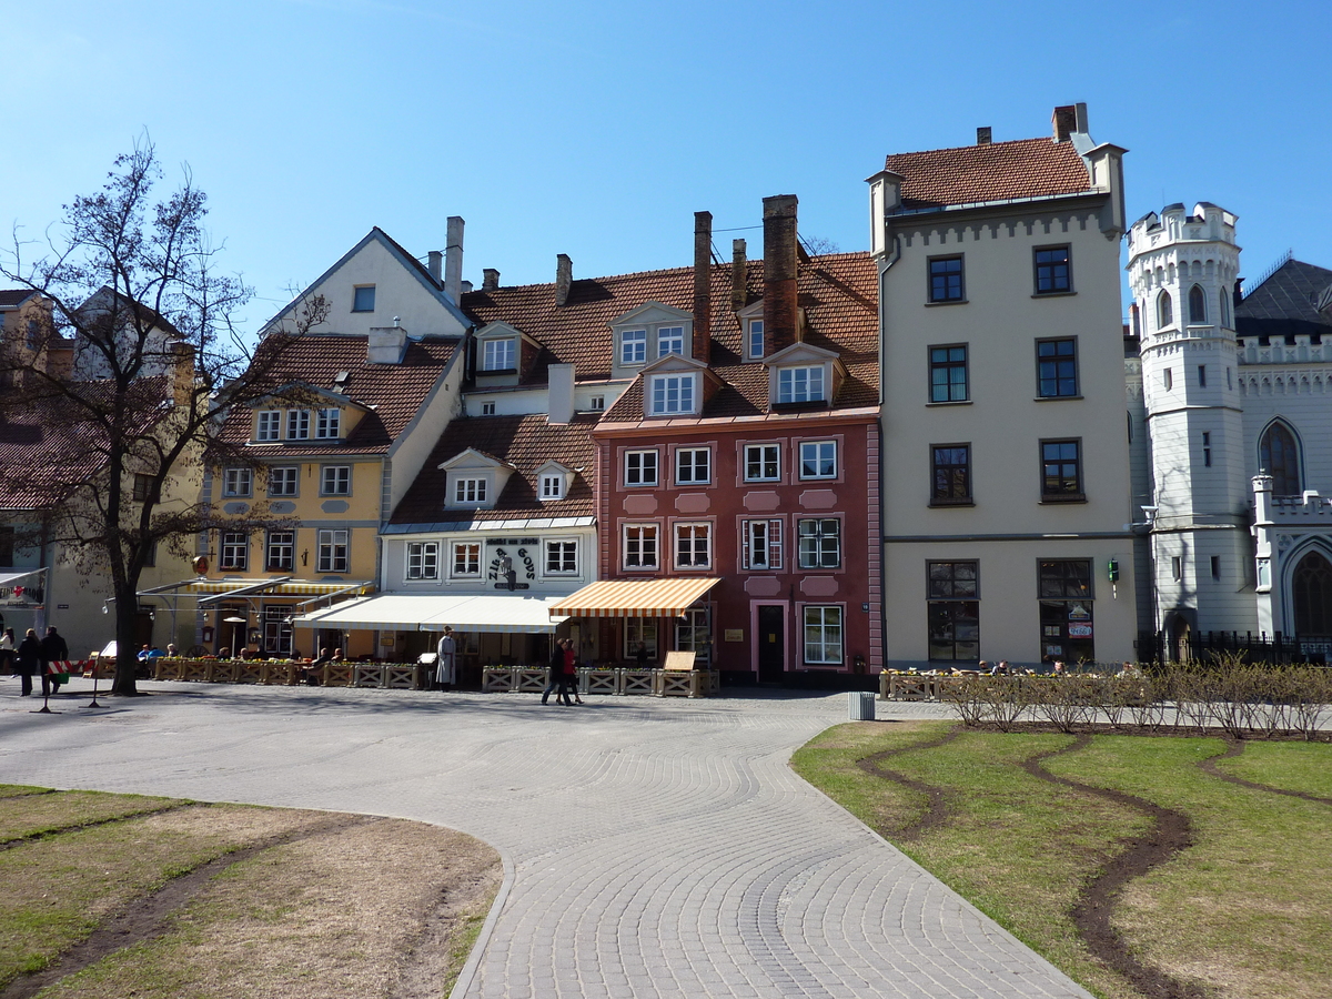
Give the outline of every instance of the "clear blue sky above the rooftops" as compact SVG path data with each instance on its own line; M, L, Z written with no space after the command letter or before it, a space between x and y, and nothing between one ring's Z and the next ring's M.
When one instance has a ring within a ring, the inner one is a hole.
M145 132L209 193L250 329L378 225L464 277L679 266L693 213L868 242L884 155L1048 135L1086 101L1130 218L1240 216L1243 270L1332 268L1332 4L0 0L0 225L40 237ZM722 232L735 229L737 232Z

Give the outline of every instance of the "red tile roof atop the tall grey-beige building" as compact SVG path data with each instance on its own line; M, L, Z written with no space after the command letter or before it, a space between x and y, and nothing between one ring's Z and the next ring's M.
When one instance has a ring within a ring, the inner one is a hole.
M904 208L1051 197L1091 188L1087 166L1074 144L1050 139L894 153L886 168L903 177Z

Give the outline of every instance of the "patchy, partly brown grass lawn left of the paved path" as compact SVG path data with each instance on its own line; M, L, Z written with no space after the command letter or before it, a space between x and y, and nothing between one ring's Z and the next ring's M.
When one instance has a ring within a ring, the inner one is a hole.
M422 823L0 786L0 991L442 995L500 876Z

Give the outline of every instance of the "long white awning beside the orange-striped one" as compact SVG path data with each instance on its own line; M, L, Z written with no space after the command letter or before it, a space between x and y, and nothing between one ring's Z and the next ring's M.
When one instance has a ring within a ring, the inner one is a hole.
M559 597L490 594L394 594L352 599L292 621L304 627L373 627L381 631L554 631L562 617L550 617Z

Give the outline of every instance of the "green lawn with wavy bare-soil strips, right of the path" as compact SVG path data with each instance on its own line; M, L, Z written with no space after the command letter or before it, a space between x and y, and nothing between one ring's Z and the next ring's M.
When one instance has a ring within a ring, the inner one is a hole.
M1140 994L1087 950L1070 916L1084 886L1152 827L1139 809L1022 769L1074 737L851 723L823 733L797 771L1091 991ZM883 754L884 757L875 757ZM1114 927L1146 964L1229 999L1313 999L1332 982L1332 806L1241 787L1199 763L1219 738L1096 735L1046 770L1184 813L1193 844L1130 882ZM858 761L878 773L866 773ZM1332 797L1332 745L1245 743L1219 763L1245 781ZM928 798L884 774L940 789L946 817L899 838Z

